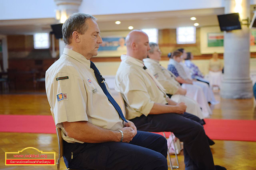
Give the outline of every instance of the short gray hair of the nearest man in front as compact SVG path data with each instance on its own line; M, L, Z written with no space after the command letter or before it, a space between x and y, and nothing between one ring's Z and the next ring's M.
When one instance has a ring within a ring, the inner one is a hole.
M74 13L70 15L62 26L62 35L65 44L71 43L71 37L74 31L77 31L79 34L84 34L88 28L88 25L85 23L88 18L96 20L92 15L84 13Z

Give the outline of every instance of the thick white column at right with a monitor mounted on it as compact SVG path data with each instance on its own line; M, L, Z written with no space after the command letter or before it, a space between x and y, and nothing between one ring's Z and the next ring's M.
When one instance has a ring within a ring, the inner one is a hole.
M250 17L250 0L241 0L240 19ZM225 14L234 13L235 0L225 0ZM224 31L224 79L221 97L246 99L253 96L250 79L250 30L242 25L241 30Z

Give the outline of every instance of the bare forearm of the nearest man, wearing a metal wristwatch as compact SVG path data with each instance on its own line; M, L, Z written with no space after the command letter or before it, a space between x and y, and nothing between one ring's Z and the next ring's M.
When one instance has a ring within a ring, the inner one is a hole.
M87 143L119 142L121 133L98 127L86 121L63 122L67 136Z

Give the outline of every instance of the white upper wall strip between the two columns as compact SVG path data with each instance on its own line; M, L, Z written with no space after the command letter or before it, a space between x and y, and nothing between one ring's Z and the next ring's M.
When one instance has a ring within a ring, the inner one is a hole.
M83 0L79 11L104 15L222 7L224 0Z

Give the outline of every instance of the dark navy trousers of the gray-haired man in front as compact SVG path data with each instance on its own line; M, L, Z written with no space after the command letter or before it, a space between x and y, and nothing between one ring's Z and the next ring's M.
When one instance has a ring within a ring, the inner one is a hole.
M64 141L64 162L76 170L168 170L166 156L166 139L143 131L130 143Z

